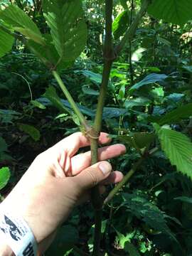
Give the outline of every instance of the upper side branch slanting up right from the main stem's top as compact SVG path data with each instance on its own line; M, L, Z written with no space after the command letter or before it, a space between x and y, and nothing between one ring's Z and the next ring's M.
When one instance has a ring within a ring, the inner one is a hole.
M122 48L124 48L124 45L127 42L132 41L132 38L134 37L134 34L137 31L137 27L139 25L139 22L141 21L142 16L144 16L144 14L146 12L146 9L148 8L149 4L151 4L151 0L144 0L142 2L142 6L141 6L136 18L132 22L131 26L129 26L129 28L127 28L127 31L125 32L125 35L122 38L122 41L120 41L120 43L115 48L116 55L119 55Z

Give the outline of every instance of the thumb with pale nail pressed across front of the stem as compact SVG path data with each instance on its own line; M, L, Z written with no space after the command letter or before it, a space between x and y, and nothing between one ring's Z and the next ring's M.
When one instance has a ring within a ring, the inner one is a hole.
M93 164L92 166L86 168L81 171L80 174L74 176L78 185L82 190L86 190L88 188L92 188L100 181L105 180L107 176L110 175L112 171L112 166L107 161L100 161L97 164Z

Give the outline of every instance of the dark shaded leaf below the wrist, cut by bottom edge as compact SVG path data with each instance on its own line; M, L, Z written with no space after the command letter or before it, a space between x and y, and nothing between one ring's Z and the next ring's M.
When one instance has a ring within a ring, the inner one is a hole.
M46 251L46 256L63 256L79 242L78 230L73 225L63 225L58 230L54 242ZM68 254L67 254L68 255Z

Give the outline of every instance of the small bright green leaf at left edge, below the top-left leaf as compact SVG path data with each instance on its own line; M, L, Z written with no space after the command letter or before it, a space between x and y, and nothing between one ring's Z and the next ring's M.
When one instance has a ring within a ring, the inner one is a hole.
M14 36L9 35L0 28L0 58L8 53L14 44Z

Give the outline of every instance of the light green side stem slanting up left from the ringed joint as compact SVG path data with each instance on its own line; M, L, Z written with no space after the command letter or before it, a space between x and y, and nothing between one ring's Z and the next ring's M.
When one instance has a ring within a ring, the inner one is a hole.
M57 71L53 70L52 74L55 78L55 80L58 82L58 85L60 86L60 89L63 91L65 97L68 99L68 102L70 103L71 107L73 108L75 114L77 114L78 118L80 119L80 123L85 127L85 130L88 129L87 122L85 120L85 117L80 112L78 106L76 105L75 101L73 100L73 97L71 97L70 92L68 92L68 89L65 87L63 80L61 80L60 75L57 73Z

